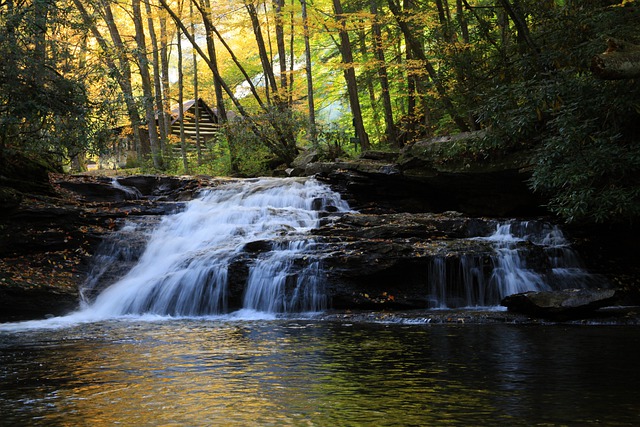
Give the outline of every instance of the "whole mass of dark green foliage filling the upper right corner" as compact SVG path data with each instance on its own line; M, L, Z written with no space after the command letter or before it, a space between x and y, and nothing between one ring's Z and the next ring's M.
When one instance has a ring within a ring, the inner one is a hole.
M483 85L477 111L489 132L465 153L533 150L531 186L549 197L552 212L574 222L637 220L640 83L598 80L589 61L605 49L605 36L636 41L640 13L636 7L530 11L539 50L513 50L509 62L497 64L498 79Z

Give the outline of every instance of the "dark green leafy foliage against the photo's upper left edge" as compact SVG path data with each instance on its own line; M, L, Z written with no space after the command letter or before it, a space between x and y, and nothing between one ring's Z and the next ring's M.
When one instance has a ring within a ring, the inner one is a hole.
M0 146L62 159L88 144L82 76L66 73L66 43L48 37L69 26L54 1L0 5Z

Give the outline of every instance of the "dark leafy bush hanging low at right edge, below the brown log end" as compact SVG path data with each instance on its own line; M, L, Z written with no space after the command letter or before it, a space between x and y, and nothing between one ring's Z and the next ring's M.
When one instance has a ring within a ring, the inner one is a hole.
M568 221L640 216L640 85L572 79L547 123L531 184ZM572 96L573 95L573 96Z

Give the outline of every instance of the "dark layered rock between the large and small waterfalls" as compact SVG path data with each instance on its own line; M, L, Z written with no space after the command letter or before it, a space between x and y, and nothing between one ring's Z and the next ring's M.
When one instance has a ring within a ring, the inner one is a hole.
M444 214L353 214L316 230L327 293L337 309L424 309L435 257L451 265L461 257L494 254L486 241L493 221ZM487 268L487 274L490 269Z

